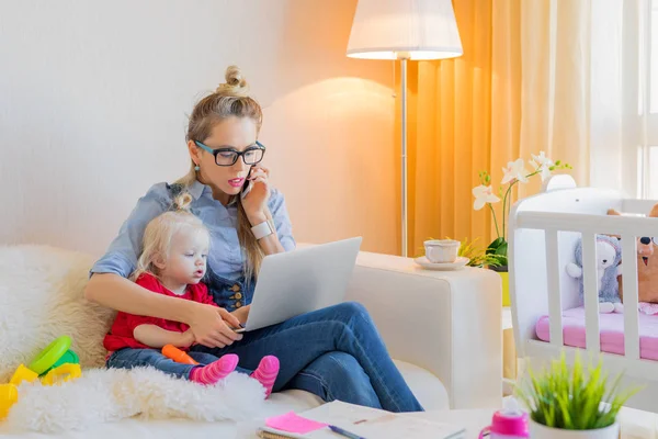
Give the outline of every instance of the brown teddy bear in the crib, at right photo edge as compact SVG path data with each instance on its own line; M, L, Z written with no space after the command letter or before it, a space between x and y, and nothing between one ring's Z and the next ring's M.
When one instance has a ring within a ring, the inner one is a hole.
M609 210L609 215L622 215L615 210ZM658 218L658 204L651 209L648 215ZM621 274L621 272L620 272ZM620 296L624 297L622 283L619 281ZM656 222L656 234L654 236L640 236L637 238L637 292L638 308L645 314L658 314L658 219Z

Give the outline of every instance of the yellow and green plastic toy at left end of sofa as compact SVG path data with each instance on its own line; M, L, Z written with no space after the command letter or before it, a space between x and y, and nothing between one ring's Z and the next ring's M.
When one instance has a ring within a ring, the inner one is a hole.
M20 364L9 384L0 384L0 419L9 414L9 409L19 401L18 386L23 381L32 383L41 379L44 385L55 385L75 380L82 374L78 354L69 350L71 339L61 336L54 340L26 368Z

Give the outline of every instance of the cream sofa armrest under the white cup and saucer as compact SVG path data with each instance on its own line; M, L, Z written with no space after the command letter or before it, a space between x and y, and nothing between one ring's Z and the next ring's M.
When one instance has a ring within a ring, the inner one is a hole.
M490 270L429 271L408 258L361 252L347 300L365 305L393 358L441 380L451 408L497 408L501 295Z

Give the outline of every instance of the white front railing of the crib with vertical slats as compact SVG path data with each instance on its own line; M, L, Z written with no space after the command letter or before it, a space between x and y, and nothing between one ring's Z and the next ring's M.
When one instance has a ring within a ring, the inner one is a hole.
M558 234L576 232L582 236L586 346L588 351L593 352L601 351L595 235L616 235L622 238L625 357L632 360L639 359L636 239L638 236L656 236L656 218L647 217L519 212L515 228L543 229L545 233L548 322L552 345L560 348L564 345L559 289L559 279L564 273L564 267L559 263Z

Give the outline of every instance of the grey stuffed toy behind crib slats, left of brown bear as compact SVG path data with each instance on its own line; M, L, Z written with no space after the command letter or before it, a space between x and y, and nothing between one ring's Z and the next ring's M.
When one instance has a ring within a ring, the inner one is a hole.
M580 281L580 299L585 300L582 282L582 239L576 244L576 262L567 263L567 273ZM620 296L617 275L622 260L622 246L614 237L597 235L597 289L599 312L622 313L624 305Z

